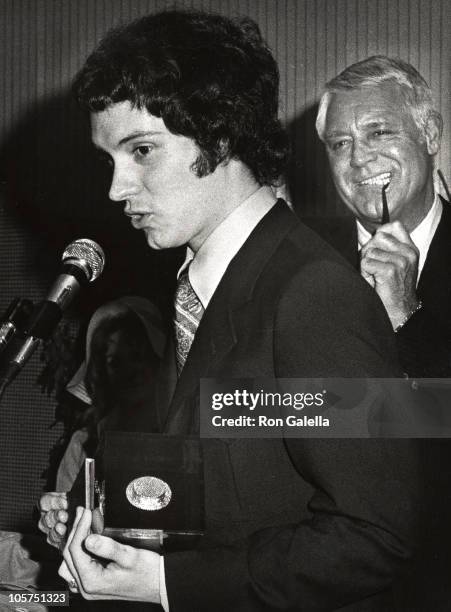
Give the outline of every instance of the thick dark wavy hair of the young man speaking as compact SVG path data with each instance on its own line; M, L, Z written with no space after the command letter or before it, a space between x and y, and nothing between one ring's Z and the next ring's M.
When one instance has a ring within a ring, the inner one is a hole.
M260 184L277 184L288 157L278 119L279 72L255 22L163 11L111 30L73 90L102 111L125 100L194 140L197 175L241 160Z

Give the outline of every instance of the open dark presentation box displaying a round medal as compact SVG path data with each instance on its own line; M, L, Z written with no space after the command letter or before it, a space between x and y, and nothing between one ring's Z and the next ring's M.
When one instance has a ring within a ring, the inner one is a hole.
M102 464L104 535L159 552L198 543L204 529L198 439L108 431Z

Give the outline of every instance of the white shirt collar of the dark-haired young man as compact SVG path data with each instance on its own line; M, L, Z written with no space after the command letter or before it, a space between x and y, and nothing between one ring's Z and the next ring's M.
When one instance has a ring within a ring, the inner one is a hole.
M260 187L213 230L197 253L187 248L178 276L190 266L189 280L204 308L208 306L229 263L259 221L274 206L276 199L270 187Z

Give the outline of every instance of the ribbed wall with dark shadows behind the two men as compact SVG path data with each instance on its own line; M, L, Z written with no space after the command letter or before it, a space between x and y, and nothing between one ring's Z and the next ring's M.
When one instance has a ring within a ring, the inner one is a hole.
M255 19L279 62L281 117L292 140L288 183L301 214L340 204L314 133L325 81L374 53L416 66L445 121L438 158L448 182L450 35L448 0L0 0L0 312L15 296L39 300L69 241L86 236L107 253L101 280L68 313L79 321L106 299L140 293L165 304L177 254L155 254L106 200L108 177L89 147L68 94L72 76L112 25L168 6ZM41 394L36 355L0 404L0 528L31 528L54 401Z

